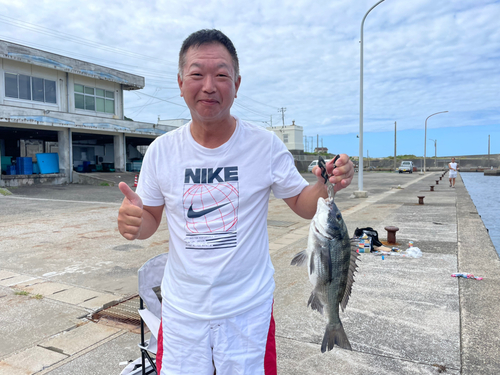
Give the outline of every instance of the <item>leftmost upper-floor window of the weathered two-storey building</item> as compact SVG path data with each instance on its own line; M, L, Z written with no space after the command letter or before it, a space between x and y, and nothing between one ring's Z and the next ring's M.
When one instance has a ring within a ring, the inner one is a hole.
M55 104L57 103L56 81L24 74L5 73L5 96Z

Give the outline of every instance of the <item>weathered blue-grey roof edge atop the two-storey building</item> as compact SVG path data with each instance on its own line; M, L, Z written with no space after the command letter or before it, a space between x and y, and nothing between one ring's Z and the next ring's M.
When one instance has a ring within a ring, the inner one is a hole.
M124 90L144 88L144 77L5 40L0 40L0 57L76 75L120 83L123 85Z

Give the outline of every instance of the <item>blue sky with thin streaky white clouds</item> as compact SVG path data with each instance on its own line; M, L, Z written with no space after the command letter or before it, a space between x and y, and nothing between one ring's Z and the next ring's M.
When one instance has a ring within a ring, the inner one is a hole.
M0 0L0 39L145 77L125 116L156 123L190 118L179 49L219 29L240 62L234 115L282 126L286 108L306 151L358 156L361 21L377 1ZM395 122L397 155L500 153L499 19L500 0L385 0L368 14L364 157L394 155Z

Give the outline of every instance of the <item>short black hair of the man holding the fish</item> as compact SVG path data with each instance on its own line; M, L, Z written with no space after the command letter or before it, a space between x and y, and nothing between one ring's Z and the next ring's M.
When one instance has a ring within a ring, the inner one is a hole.
M199 47L203 44L218 43L226 47L233 60L235 79L240 75L240 63L238 54L233 42L222 31L216 29L202 29L189 35L182 43L179 52L179 75L182 77L182 70L186 64L186 53L191 47Z

